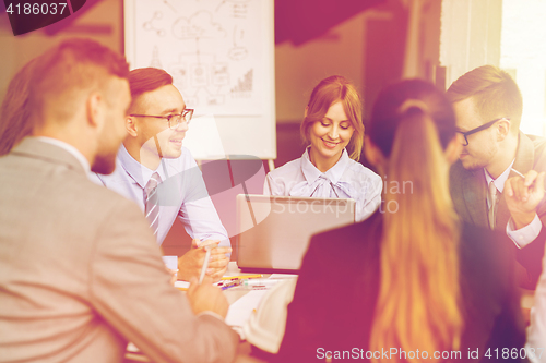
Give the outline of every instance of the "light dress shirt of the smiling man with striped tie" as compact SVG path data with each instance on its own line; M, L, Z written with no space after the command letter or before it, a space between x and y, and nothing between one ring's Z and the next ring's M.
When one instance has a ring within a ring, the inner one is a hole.
M163 243L178 217L192 239L219 240L221 246L230 246L227 231L209 196L201 170L186 147L182 147L179 158L163 158L157 170L150 170L121 145L116 170L109 176L93 173L91 179L134 201L144 214L144 186L154 172L162 178L162 183L157 186L158 244Z

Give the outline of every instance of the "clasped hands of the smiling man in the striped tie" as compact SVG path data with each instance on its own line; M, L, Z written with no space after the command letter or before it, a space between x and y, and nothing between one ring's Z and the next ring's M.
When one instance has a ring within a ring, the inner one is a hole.
M189 281L192 277L199 277L206 254L206 250L204 249L206 246L212 249L206 275L214 282L219 281L221 277L226 273L227 264L229 263L226 253L230 253L232 247L218 247L218 243L219 241L213 240L206 240L201 243L199 240L191 241L191 250L178 258L178 276L186 281Z

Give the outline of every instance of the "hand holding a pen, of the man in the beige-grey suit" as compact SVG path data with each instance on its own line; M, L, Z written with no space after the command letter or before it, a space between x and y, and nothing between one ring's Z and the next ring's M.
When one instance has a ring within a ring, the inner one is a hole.
M205 277L201 285L198 283L197 278L191 278L187 295L193 314L213 312L223 318L226 317L229 307L227 299L222 293L222 290L212 286L210 277Z

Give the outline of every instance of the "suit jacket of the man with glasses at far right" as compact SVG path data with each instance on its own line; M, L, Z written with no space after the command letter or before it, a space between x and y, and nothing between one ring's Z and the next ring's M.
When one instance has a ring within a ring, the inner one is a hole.
M546 140L520 132L513 168L522 173L530 170L546 171ZM515 177L515 174L511 172L510 177ZM470 171L463 168L461 161L455 162L450 172L450 190L455 210L462 220L485 228L489 227L486 202L487 183L483 169ZM537 214L543 226L546 226L546 201L538 205ZM496 229L506 231L510 211L503 197L499 199L496 219ZM519 250L511 243L518 261L526 269L526 285L530 288L534 288L541 275L544 244L544 240L536 239Z

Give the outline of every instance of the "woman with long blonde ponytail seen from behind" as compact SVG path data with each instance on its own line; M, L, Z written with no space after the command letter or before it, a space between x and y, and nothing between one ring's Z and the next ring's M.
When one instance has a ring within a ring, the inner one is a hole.
M379 94L365 152L385 178L382 206L312 238L275 360L520 361L509 243L453 210L460 145L434 85L403 81Z

